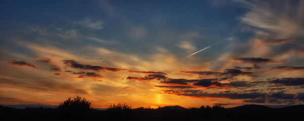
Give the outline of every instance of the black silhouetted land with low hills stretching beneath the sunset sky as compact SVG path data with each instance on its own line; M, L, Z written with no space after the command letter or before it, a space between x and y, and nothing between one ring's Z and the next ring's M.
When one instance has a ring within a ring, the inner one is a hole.
M60 109L12 108L0 106L0 120L304 120L304 105L270 108L244 105L233 108L183 108L166 106L150 108Z

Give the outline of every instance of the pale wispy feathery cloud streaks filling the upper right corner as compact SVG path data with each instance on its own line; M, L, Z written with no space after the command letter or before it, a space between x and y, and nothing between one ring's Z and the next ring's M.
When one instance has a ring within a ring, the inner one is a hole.
M285 5L274 7L274 1L236 1L241 3L250 11L240 17L243 23L253 27L267 30L277 39L286 39L295 36L302 36L300 31L303 30L303 5L304 2L297 1L298 6L288 7L292 4L290 1L282 1ZM289 14L289 13L294 14ZM266 31L265 31L266 32Z

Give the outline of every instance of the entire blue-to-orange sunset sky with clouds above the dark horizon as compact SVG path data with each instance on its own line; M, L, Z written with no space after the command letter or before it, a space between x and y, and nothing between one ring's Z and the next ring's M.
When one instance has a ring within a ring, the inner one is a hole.
M304 1L1 1L0 104L304 104Z

